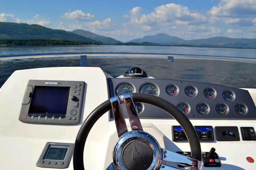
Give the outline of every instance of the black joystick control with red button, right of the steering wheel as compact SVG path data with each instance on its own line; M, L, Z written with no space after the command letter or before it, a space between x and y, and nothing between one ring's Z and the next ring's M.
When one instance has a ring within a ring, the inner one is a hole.
M204 167L221 167L221 162L215 148L211 148L210 152L202 152Z

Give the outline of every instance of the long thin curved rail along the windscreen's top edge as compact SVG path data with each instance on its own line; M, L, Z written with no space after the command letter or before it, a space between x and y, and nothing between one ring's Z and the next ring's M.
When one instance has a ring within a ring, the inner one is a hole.
M228 57L228 56L213 56L213 55L189 55L189 54L166 54L166 53L116 53L116 52L80 52L80 53L45 53L45 54L19 54L19 55L2 55L0 60L28 59L28 58L48 58L48 57L123 57L129 56L132 58L175 58L175 59L199 59L199 60L219 60L219 61L235 61L256 63L256 58L247 57ZM168 59L169 59L168 58ZM170 61L170 60L169 60Z

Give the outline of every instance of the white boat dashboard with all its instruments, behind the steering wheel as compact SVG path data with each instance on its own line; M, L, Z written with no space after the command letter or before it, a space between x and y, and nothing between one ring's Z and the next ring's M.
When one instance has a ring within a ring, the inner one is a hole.
M9 77L0 88L0 169L73 169L83 121L106 100L127 93L158 96L190 120L201 145L202 169L255 169L256 89L128 74L113 78L99 67L24 69ZM187 136L172 116L151 104L134 105L143 130L162 148L191 156ZM87 137L85 169L106 169L113 162L116 131L108 111Z

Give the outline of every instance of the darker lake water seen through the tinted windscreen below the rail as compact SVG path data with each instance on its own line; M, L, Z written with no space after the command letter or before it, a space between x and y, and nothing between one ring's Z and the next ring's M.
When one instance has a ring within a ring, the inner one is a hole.
M167 58L89 58L88 65L101 67L113 77L123 75L128 68L137 66L154 78L188 80L237 88L256 88L256 67L255 64L250 63L211 60L174 60L171 63ZM0 61L0 86L15 70L62 66L79 67L80 57L66 60L40 58Z

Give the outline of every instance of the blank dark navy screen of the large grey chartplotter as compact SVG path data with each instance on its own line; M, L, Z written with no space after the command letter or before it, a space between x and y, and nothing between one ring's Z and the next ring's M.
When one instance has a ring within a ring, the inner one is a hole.
M28 113L66 114L70 87L35 86Z

